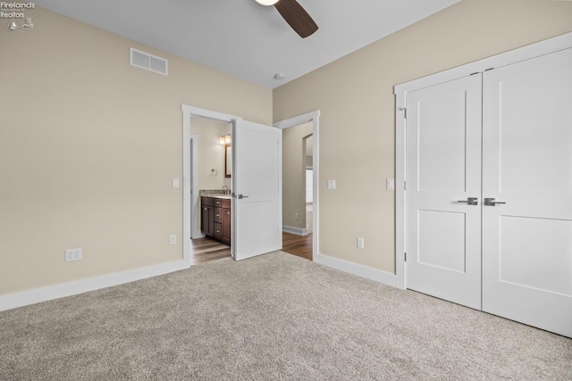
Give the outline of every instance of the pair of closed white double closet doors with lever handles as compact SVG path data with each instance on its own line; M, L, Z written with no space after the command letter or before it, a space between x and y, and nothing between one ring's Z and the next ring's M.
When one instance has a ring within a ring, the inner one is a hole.
M572 49L406 102L407 287L572 337Z

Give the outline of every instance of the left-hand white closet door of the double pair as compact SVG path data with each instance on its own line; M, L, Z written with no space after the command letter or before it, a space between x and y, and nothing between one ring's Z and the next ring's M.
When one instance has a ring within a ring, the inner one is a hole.
M407 287L479 310L481 84L408 93L406 159Z

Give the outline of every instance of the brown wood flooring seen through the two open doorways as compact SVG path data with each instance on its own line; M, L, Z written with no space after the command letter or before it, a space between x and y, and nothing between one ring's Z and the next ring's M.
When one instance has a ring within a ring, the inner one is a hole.
M312 235L282 233L282 251L312 261ZM231 248L212 238L190 240L190 265L216 261L231 256Z

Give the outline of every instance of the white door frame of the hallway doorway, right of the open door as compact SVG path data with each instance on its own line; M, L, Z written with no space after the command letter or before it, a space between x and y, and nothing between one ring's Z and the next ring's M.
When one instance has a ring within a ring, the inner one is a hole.
M319 232L320 229L318 227L318 223L319 223L319 208L320 208L320 200L319 200L319 195L320 193L318 192L320 184L318 181L318 174L319 174L319 138L318 138L318 131L319 131L319 126L320 126L320 111L316 110L315 112L307 112L305 114L299 115L299 116L295 116L293 118L290 119L286 119L286 120L280 120L277 121L275 123L273 123L273 127L275 128L290 128L290 127L295 127L295 126L299 126L300 124L305 124L305 123L312 123L312 134L313 134L313 139L312 139L312 150L313 150L313 159L312 159L312 166L314 167L314 173L313 173L313 181L314 181L314 189L312 191L313 193L313 197L314 197L314 211L312 212L312 261L317 261L318 258L318 243L320 242L318 239L319 236ZM280 215L281 215L281 220L280 223L282 225L282 192L280 195Z

